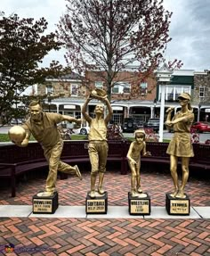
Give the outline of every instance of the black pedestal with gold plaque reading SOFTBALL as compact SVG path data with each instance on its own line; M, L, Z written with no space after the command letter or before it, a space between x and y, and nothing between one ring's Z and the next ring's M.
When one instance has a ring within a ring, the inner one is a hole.
M86 196L86 214L107 214L108 209L108 194L105 192L104 194L100 194L91 198L89 195L90 192L87 193Z

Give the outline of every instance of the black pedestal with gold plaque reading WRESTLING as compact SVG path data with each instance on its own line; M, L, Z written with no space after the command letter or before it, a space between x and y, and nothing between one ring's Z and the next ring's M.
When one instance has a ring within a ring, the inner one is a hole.
M141 197L141 195L146 195ZM128 193L128 205L130 215L149 215L151 211L150 197L147 193L140 194L140 197L132 197L131 193Z

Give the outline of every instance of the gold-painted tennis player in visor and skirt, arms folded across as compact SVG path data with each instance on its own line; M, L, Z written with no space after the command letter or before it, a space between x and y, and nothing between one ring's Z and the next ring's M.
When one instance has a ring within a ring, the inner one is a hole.
M190 106L190 95L182 93L179 97L182 110L178 111L173 120L171 120L174 108L169 108L166 112L166 127L174 128L174 136L168 145L166 153L170 154L170 169L174 181L174 192L170 194L173 197L185 198L184 188L189 178L189 161L194 156L191 145L190 126L194 120L194 114ZM179 186L177 174L178 157L182 158L182 184Z

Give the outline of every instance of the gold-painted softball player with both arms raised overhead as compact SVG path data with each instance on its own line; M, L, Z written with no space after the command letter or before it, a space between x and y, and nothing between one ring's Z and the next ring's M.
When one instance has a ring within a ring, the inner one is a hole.
M95 118L91 118L89 114L86 112L87 104L93 99L93 97L101 100L106 103L109 113L105 118L103 118L104 114L104 105L98 103L95 106ZM95 183L97 174L99 173L99 186L98 186L98 194L104 194L104 190L102 188L104 173L106 171L107 164L107 155L108 155L108 143L107 143L107 125L109 120L111 120L113 111L107 96L97 95L97 93L90 95L85 104L82 107L82 113L85 120L90 125L90 132L88 135L89 145L88 145L88 153L92 165L91 171L91 193L90 197L94 198L96 196L95 192Z

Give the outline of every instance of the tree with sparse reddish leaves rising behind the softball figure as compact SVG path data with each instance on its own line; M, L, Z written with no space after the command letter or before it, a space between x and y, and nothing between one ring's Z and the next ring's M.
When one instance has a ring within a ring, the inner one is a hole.
M110 98L117 74L133 62L142 78L163 61L172 12L162 0L67 0L58 35L78 73L104 70Z

